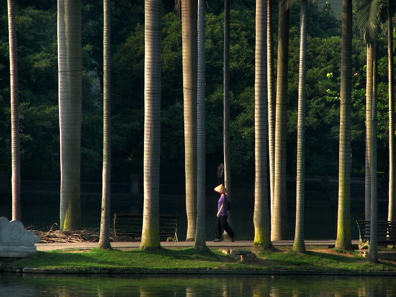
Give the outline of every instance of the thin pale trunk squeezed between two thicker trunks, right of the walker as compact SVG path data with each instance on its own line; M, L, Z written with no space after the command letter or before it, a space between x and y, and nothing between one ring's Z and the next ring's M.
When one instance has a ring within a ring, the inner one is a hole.
M275 70L274 70L274 34L272 29L273 0L267 0L267 80L268 80L268 154L270 180L271 225L274 209L275 187Z

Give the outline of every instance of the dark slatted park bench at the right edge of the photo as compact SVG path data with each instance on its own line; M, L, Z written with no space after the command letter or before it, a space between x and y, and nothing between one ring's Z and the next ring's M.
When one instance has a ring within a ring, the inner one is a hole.
M359 249L370 248L370 221L356 221L359 229ZM377 221L377 245L396 245L396 221Z

